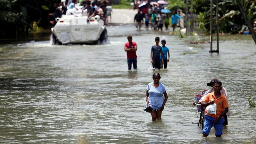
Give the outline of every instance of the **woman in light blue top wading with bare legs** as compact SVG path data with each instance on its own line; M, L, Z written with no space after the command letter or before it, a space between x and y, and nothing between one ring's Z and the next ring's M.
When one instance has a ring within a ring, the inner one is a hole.
M164 110L168 96L166 88L159 82L161 79L160 74L154 73L152 78L154 81L150 82L146 88L146 102L147 107L151 108L152 121L156 121L162 119L162 111Z

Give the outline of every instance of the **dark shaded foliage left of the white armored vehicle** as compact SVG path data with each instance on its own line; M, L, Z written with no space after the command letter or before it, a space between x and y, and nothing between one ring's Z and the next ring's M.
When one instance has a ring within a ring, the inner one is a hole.
M48 13L54 12L58 0L0 0L0 37L10 38L24 34L33 25L46 27Z

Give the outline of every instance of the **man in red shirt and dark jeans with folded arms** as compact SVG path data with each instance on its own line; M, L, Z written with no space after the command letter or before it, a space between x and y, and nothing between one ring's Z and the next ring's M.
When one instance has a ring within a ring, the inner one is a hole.
M132 41L132 36L127 36L128 42L124 44L124 51L127 52L127 63L128 70L132 69L132 65L134 69L137 69L137 44Z

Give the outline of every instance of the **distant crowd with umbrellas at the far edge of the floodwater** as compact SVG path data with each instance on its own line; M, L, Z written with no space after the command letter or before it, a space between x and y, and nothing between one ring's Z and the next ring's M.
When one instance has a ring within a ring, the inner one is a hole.
M143 22L145 22L145 28L148 30L149 24L152 30L161 30L165 26L168 30L169 25L172 25L174 31L176 26L181 29L184 28L184 16L185 14L181 9L178 10L179 14L175 11L171 13L166 9L166 4L158 4L157 2L142 1L138 7L138 13L134 16L134 22L136 22L136 28L141 29Z

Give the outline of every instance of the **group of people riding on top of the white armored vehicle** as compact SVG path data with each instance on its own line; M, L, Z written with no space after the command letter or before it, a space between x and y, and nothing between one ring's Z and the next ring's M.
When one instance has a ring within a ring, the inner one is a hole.
M111 21L112 6L109 6L108 0L61 0L60 3L54 3L55 12L50 15L50 23L55 25L56 18L62 15L87 16L88 20L93 16L100 16L107 24Z

